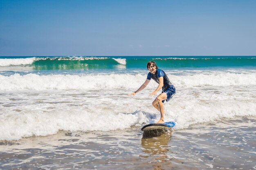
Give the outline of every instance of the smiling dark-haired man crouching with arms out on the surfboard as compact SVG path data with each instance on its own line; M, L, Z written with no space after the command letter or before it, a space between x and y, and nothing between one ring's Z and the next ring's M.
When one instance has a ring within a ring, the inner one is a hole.
M157 98L155 98L155 100L152 103L152 105L161 113L160 120L157 121L157 123L162 124L164 123L164 100L168 102L173 97L173 95L175 95L176 89L171 84L166 73L158 69L155 62L153 61L148 62L147 68L149 70L149 73L146 81L139 87L137 91L131 94L128 94L128 96L135 95L139 91L142 91L148 85L148 83L150 82L150 79L155 80L155 82L157 82L159 85L157 86L155 91L150 93L150 95L154 96L162 88L162 94L157 96Z

